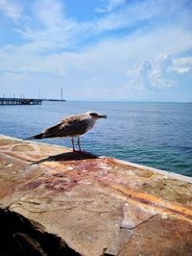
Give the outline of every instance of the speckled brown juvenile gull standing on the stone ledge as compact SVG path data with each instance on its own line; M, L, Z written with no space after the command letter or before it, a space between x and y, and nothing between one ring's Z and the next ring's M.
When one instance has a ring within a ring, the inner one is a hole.
M75 150L74 138L78 138L79 151L82 151L80 145L80 136L90 130L99 118L107 118L107 115L100 115L94 112L86 112L80 115L69 115L62 118L61 121L40 134L27 138L25 140L40 140L45 138L71 138L73 152Z

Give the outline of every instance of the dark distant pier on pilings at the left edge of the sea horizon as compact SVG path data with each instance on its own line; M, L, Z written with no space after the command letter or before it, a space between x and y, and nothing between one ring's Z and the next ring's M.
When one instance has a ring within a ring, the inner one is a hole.
M41 105L42 99L0 98L0 105Z

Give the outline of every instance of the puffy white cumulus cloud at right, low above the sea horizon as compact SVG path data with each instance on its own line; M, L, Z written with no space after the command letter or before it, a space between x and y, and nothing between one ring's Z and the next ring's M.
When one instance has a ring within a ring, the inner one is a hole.
M129 69L127 76L132 90L167 90L180 86L183 89L191 86L192 59L175 61L170 54L159 54L154 67L145 61Z

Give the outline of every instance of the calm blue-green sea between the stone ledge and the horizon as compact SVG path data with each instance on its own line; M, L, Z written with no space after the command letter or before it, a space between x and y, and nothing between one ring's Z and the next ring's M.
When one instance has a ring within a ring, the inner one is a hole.
M26 138L86 111L108 115L82 139L84 150L192 176L191 103L43 102L0 106L0 133ZM69 139L44 140L71 146Z

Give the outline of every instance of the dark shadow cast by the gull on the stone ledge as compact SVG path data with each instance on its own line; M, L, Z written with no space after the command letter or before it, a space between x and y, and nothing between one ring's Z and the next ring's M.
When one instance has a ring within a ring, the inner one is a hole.
M40 159L38 161L33 162L31 166L41 164L43 162L80 161L85 159L97 159L97 158L98 156L85 151L66 152L66 153L61 153L59 155L53 155L53 156Z

